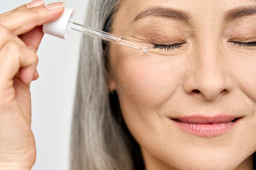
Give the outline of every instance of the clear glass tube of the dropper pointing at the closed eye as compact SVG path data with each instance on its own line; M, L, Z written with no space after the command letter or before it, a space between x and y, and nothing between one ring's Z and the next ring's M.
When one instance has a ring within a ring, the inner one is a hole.
M128 46L133 49L142 50L144 53L148 53L149 46L145 46L140 42L137 42L131 39L126 39L124 37L120 37L115 34L104 32L89 26L80 25L74 22L69 22L68 27L70 27L72 30L83 32L84 34L87 34L87 35L91 35L91 36L104 39L104 40L107 40L116 44L120 44L123 46Z

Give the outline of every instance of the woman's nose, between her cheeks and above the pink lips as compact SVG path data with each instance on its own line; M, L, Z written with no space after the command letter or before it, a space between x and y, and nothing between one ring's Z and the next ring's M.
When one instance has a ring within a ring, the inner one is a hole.
M194 57L183 81L183 89L187 94L204 100L214 100L231 91L232 82L220 52L204 48Z

